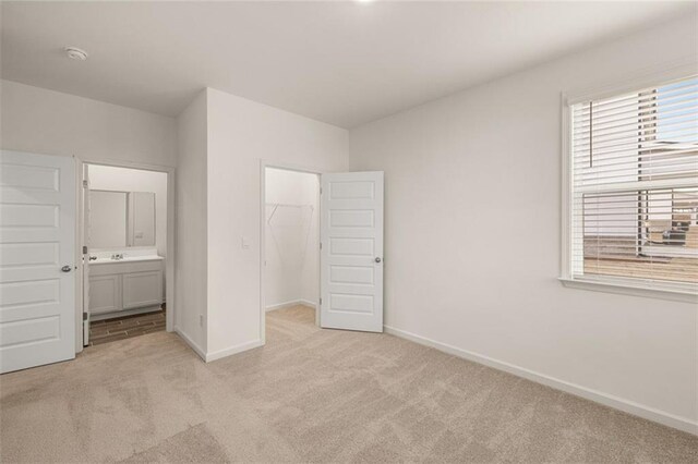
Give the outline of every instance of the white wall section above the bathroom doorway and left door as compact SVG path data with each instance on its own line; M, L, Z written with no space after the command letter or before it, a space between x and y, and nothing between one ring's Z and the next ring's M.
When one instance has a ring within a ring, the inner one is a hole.
M0 81L3 149L173 167L172 118Z

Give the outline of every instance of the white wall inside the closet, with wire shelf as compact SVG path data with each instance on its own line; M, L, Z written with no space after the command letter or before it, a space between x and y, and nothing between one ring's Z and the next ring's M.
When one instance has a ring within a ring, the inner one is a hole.
M266 170L265 305L315 304L318 295L317 175Z

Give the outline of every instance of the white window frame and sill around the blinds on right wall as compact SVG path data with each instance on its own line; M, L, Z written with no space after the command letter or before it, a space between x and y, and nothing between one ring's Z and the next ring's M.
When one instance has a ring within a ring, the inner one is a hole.
M573 277L571 271L571 224L573 224L573 148L571 148L571 108L582 101L611 98L615 95L633 93L637 89L661 86L671 82L698 76L698 63L695 57L685 57L674 62L664 63L651 69L631 73L633 77L581 91L563 91L562 107L562 223L561 223L561 270L559 282L566 288L590 290L597 292L618 293L642 297L652 297L678 302L698 303L698 290L691 290L689 284L683 289L647 288L639 279L622 277L606 277L603 279L579 279Z

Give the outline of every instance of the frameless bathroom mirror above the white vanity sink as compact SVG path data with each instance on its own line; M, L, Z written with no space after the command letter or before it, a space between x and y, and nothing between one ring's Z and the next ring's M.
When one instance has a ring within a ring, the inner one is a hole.
M155 194L89 191L89 246L155 246Z

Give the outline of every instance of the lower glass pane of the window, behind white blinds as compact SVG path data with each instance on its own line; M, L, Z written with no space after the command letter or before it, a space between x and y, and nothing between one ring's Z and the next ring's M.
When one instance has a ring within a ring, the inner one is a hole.
M586 194L583 273L698 283L698 188Z

